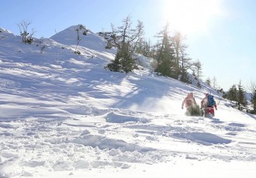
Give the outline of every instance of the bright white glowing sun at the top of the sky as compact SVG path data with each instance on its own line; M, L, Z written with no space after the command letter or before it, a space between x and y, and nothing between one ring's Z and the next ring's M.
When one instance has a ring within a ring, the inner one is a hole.
M221 14L221 0L164 0L162 21L184 34L206 32Z

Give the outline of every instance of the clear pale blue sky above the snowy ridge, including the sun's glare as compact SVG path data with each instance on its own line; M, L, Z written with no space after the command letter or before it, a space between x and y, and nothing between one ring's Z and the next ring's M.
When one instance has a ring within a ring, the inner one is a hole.
M144 22L147 39L169 22L186 36L187 53L202 62L204 77L216 77L224 90L256 81L256 1L254 0L2 0L0 27L19 35L17 24L31 22L36 37L50 37L69 26L97 33L120 26L130 15Z

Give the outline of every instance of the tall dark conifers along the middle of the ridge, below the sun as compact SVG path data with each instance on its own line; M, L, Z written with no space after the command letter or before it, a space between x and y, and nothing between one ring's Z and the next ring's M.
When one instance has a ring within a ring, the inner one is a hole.
M112 25L112 32L100 33L100 35L108 41L106 49L112 47L117 49L115 59L107 64L106 70L128 74L137 68L135 53L140 53L154 59L152 68L156 74L192 84L189 77L189 70L192 70L198 86L201 86L199 78L202 76L202 63L199 60L192 62L186 53L185 36L179 32L171 35L168 24L156 34L155 44L144 39L143 22L138 21L137 26L133 28L130 16L123 19L122 26L115 28Z

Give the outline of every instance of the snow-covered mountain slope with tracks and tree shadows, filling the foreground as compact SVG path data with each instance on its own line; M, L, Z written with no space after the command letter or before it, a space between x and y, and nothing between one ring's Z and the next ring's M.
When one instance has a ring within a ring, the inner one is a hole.
M75 26L31 45L2 33L0 177L256 176L256 117L210 87L105 70L115 51L89 32L74 54ZM215 95L215 118L184 115L190 91Z

